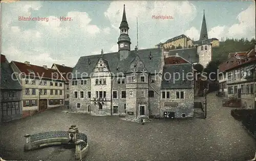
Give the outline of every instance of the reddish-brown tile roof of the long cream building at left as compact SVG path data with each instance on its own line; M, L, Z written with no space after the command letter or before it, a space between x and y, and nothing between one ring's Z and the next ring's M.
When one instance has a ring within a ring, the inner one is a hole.
M15 61L12 61L12 62L16 65L19 71L22 72L23 75L50 78L50 79L61 79L64 81L64 79L55 69L51 69L51 68L46 69L41 66L32 65L32 64L28 65L26 63L15 62Z

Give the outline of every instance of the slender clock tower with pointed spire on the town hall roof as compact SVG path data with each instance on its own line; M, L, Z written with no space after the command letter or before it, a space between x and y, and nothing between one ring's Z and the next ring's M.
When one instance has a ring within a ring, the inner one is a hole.
M118 53L119 60L123 60L129 56L129 51L131 50L131 39L128 35L129 26L125 15L125 5L123 5L123 17L120 24L120 36L118 38Z

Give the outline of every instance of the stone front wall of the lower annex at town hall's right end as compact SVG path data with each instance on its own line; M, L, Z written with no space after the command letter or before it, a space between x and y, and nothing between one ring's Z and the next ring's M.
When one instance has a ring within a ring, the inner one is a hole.
M169 91L170 98L162 98L162 92ZM184 99L177 99L176 92L183 91ZM178 106L165 106L165 103L177 102ZM194 89L175 89L175 90L161 90L161 117L164 112L174 112L175 118L183 118L182 114L185 114L185 118L193 117L194 115Z

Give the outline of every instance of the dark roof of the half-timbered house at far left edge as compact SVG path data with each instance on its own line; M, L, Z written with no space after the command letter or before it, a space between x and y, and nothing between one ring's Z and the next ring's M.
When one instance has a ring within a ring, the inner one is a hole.
M4 55L1 54L1 89L8 89L8 90L22 90L22 86L19 84L18 81L15 81L17 77L13 75L13 70Z

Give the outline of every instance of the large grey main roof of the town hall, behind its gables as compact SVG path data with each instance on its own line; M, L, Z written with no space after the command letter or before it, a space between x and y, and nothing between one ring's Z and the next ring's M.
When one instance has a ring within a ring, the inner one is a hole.
M129 69L130 64L134 61L136 58L136 52L135 50L130 51L129 56L119 61L118 60L118 52L112 52L112 53L104 53L102 56L102 59L108 62L109 69L112 73L117 74L120 72L125 73L127 69ZM150 53L152 55L152 59L150 60ZM138 51L139 58L143 61L145 68L150 73L158 73L160 71L160 64L161 64L161 56L162 56L162 50L160 48L149 48L149 49L141 49ZM80 57L77 64L73 68L73 75L75 76L75 73L77 72L76 78L81 78L81 73L84 73L83 76L91 75L93 72L93 69L98 62L98 60L101 58L101 55L92 55L92 56L85 56ZM90 65L89 65L90 63ZM117 70L118 67L118 70ZM86 74L87 73L87 74Z

